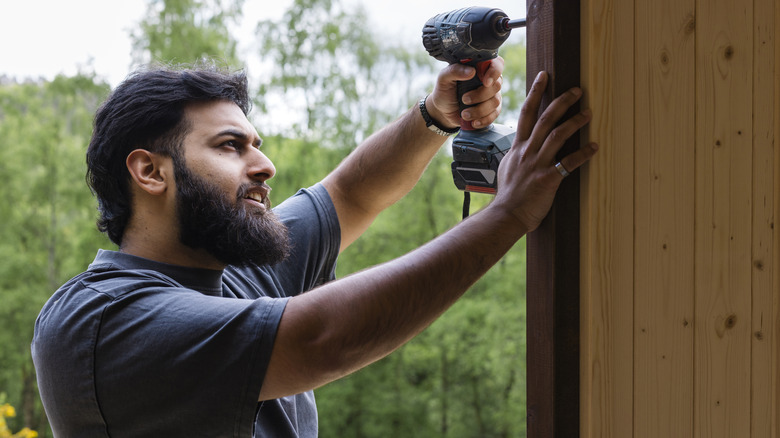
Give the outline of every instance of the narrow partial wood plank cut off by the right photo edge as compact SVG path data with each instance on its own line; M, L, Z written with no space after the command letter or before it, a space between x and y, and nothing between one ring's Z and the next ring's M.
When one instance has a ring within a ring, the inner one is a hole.
M753 36L753 303L751 369L751 437L773 435L773 415L777 410L776 387L776 304L773 288L773 214L778 185L774 145L778 117L778 66L775 64L777 23L775 0L756 0Z

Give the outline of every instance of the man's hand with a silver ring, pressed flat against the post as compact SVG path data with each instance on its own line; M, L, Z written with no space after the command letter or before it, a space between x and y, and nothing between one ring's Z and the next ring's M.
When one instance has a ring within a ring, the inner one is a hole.
M514 144L501 160L498 169L498 193L491 207L508 209L526 231L539 226L552 206L555 192L564 176L555 168L556 154L564 142L590 122L590 110L556 123L582 96L572 88L556 98L538 117L542 94L547 87L547 73L541 72L531 86L517 126ZM561 159L568 172L588 161L598 149L590 143Z

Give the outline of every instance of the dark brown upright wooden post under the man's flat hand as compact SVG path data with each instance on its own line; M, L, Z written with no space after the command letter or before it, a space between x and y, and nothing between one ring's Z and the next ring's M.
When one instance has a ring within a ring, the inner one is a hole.
M550 75L542 110L579 85L579 3L529 0L529 87L539 71ZM578 147L575 136L561 156ZM579 436L579 192L579 172L573 172L561 184L547 218L528 235L530 438Z

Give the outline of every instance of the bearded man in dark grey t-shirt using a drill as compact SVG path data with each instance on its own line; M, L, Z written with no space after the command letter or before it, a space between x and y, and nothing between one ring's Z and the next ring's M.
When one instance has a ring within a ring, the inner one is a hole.
M554 128L534 82L483 211L427 245L333 280L336 257L414 186L459 117L501 107L503 60L464 96L470 67L271 210L271 161L247 120L246 78L212 69L131 75L98 110L87 151L99 228L119 245L63 285L36 322L33 359L57 436L316 436L312 390L410 340L546 215L554 157L590 119ZM586 162L591 144L561 160ZM305 158L304 158L305 159ZM303 293L306 292L306 293Z

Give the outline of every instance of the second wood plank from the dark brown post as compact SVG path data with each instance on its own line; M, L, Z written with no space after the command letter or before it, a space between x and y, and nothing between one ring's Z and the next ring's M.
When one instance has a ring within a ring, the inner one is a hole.
M693 433L693 0L636 3L634 436Z

